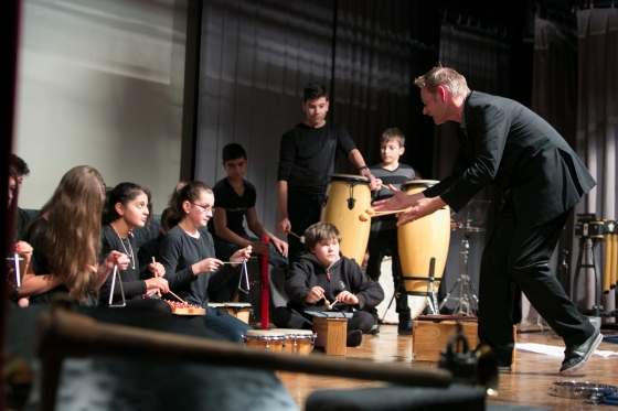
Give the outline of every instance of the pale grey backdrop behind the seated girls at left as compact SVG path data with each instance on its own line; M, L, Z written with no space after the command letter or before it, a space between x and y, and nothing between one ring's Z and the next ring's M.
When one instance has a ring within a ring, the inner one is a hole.
M180 179L187 0L24 0L14 151L22 208L93 165L150 188L160 213Z

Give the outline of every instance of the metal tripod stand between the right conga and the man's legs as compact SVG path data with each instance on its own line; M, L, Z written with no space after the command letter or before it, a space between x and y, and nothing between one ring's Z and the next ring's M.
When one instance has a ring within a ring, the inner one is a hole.
M479 307L479 299L477 296L477 290L475 283L470 281L468 275L468 257L470 253L470 235L472 234L470 228L470 220L468 219L466 225L461 227L464 229L464 238L461 239L461 251L460 251L460 272L459 278L452 284L450 291L446 294L440 303L439 309L441 310L446 302L452 298L457 300L457 305L455 307L455 315L477 315ZM459 285L459 296L452 296L452 292Z

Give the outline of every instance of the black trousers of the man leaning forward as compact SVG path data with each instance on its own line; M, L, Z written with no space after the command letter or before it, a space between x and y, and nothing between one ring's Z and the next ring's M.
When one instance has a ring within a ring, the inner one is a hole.
M540 205L531 205L540 206ZM507 199L483 250L479 285L479 339L500 363L510 364L514 348L512 304L515 284L565 345L582 344L595 328L578 313L548 267L571 210L541 226L518 224Z

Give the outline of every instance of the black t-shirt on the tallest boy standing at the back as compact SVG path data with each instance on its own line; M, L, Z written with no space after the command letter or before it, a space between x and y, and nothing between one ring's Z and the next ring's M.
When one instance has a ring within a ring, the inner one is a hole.
M277 181L288 182L289 194L323 194L338 149L345 156L355 149L345 127L334 122L319 128L298 123L281 137Z

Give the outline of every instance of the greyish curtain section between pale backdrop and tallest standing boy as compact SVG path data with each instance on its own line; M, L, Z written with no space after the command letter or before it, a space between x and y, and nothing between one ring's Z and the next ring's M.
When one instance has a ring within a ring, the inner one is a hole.
M329 0L204 1L195 179L225 177L222 149L242 144L258 218L271 232L281 134L303 120L302 88L330 84L332 9Z

